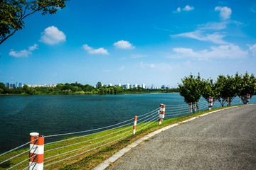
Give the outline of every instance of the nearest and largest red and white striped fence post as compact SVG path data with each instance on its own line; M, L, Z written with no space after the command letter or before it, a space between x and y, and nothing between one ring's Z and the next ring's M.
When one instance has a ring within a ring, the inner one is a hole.
M30 151L29 151L29 170L43 170L43 152L44 152L44 136L38 132L30 134Z

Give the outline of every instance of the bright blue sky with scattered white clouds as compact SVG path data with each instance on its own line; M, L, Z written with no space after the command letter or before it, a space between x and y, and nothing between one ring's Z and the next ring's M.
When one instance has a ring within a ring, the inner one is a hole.
M0 81L177 86L256 74L255 1L71 0L0 45Z

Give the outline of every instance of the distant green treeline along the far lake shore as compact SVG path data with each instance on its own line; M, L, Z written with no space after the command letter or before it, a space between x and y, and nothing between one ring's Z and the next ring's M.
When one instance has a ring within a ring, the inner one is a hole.
M142 87L124 89L122 86L101 86L95 88L88 84L58 84L56 87L28 87L24 85L20 89L9 89L0 83L0 94L148 94L148 93L171 93L178 92L178 88L173 89L144 89Z

